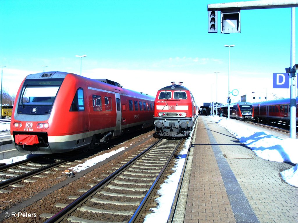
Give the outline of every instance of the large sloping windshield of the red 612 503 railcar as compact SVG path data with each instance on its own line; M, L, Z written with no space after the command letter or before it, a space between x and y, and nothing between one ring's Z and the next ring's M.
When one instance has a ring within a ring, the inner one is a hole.
M18 114L49 114L63 82L59 79L26 79L19 95Z

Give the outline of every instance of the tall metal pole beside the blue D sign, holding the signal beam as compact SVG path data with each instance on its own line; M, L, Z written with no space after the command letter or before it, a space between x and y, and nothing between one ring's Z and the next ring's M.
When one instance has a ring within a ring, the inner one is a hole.
M291 8L291 68L295 65L295 8ZM295 73L291 78L290 87L290 138L296 139L296 83Z

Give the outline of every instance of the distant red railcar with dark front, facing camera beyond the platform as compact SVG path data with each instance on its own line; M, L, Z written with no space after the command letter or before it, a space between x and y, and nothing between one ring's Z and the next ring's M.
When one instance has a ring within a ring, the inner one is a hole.
M228 105L220 107L223 111L223 116L228 117ZM218 110L220 109L218 108ZM251 121L254 118L254 108L252 103L239 101L230 104L230 117L243 121Z

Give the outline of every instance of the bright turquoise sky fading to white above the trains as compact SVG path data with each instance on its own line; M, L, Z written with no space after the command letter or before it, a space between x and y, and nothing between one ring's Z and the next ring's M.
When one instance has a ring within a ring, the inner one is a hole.
M288 89L272 89L272 74L290 66L291 9L242 10L240 34L208 33L207 4L224 2L231 1L1 0L4 89L16 94L41 66L80 74L75 55L86 54L83 76L154 96L171 81L182 81L197 104L216 98L224 103L229 65L224 45L235 44L230 90L239 95L232 100L252 91L289 97ZM214 72L220 72L217 96Z

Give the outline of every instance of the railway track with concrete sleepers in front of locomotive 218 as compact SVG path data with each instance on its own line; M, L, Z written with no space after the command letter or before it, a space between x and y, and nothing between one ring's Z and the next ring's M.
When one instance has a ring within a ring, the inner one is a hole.
M136 222L183 139L159 139L58 213L41 214L50 222Z

